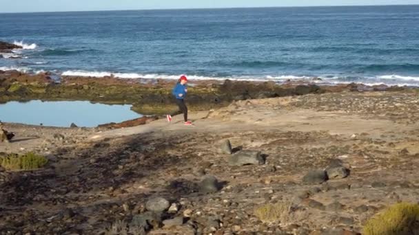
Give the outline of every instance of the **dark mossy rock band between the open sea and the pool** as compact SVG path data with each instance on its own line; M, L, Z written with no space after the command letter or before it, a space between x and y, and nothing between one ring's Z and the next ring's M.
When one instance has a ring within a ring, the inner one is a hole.
M173 80L86 78L63 76L53 79L50 73L25 74L0 70L0 103L29 100L89 100L109 104L132 104L132 110L145 115L161 115L177 110L171 90ZM192 81L187 104L192 111L226 107L233 101L308 93L342 91L395 91L407 87L379 85L316 85L312 81L245 82L225 80Z

